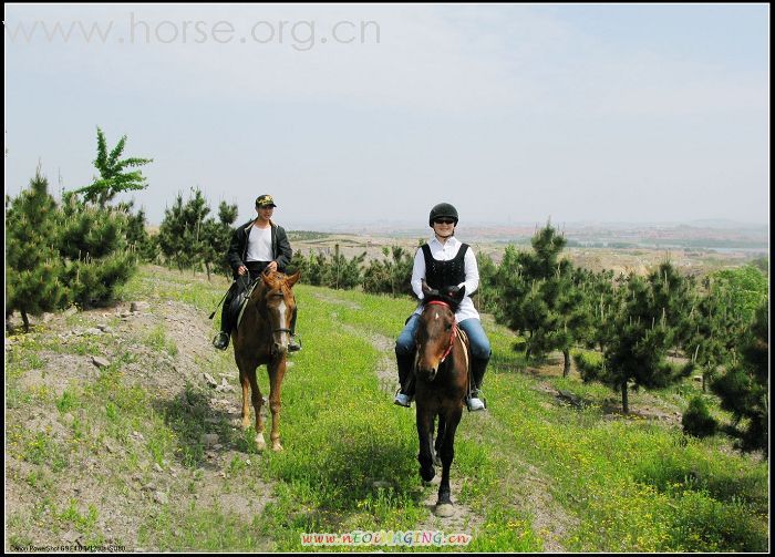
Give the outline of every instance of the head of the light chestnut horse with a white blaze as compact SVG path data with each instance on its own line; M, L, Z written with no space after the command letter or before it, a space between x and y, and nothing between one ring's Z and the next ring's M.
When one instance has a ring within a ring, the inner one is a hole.
M290 276L278 271L261 274L264 288L260 289L260 299L256 301L256 307L271 329L271 352L273 354L288 352L290 323L296 308L292 288L300 277L300 271Z

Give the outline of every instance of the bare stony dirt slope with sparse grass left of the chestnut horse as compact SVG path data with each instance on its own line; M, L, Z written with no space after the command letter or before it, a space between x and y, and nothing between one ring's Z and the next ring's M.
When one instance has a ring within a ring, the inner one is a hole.
M59 349L37 352L34 369L14 380L19 400L6 410L6 550L22 543L61 546L94 540L136 550L143 527L162 517L210 509L251 524L272 501L273 485L256 475L249 491L234 484L234 461L256 467L261 456L235 445L239 433L231 420L238 415L241 396L237 371L220 360L228 357L211 348L207 314L177 301L144 302L138 308L131 311L125 303L70 319L55 314L33 321L38 342L53 342ZM8 337L7 354L24 341L23 334ZM104 406L92 408L91 413L82 408L58 411L54 403L61 403L65 391L78 393L93 384L105 365L118 369L123 385L147 393L148 411L165 416L178 406L189 408L192 419L220 432L220 443L209 447L198 465L176 458L159 464L154 451L168 443L167 437L151 440L147 432L144 436L137 431L115 437ZM216 373L218 382L225 379L234 392L216 392L205 382L205 371L220 369L229 371ZM186 402L190 392L200 400ZM48 402L30 402L30 396L46 396L42 400ZM33 442L38 439L40 446ZM142 548L157 549L153 538Z

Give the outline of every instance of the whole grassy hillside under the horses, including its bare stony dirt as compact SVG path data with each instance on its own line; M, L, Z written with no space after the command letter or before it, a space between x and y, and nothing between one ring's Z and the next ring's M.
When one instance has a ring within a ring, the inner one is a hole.
M286 450L258 453L252 430L238 426L231 349L209 345L207 314L226 286L147 267L115 309L55 316L7 339L7 550L347 551L304 546L302 535L355 530L472 536L466 547L358 550L768 547L767 464L728 440L681 433L694 384L634 393L626 417L606 388L526 368L490 320L489 410L458 429L458 513L433 516L437 485L420 482L414 412L392 404L392 343L409 299L297 286L303 350L282 389ZM137 300L147 303L122 317ZM559 403L558 389L588 404Z

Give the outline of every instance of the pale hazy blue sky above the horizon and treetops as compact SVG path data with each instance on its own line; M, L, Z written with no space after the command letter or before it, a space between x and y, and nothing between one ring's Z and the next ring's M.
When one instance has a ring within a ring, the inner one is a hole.
M6 190L91 182L96 127L276 220L768 223L769 7L13 6ZM54 25L59 23L59 27ZM46 34L48 33L48 34ZM91 33L91 34L90 34Z

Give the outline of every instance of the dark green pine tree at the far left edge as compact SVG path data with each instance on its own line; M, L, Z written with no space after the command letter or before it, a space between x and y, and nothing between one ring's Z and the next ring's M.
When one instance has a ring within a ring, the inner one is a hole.
M40 167L29 189L6 197L6 318L19 310L29 331L29 316L62 309L70 292L61 280L56 250L56 203Z

